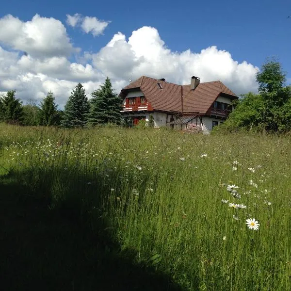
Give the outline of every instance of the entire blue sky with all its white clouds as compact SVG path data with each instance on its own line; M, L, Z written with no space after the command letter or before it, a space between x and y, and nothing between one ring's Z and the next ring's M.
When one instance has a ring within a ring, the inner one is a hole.
M290 35L290 0L4 1L0 93L39 104L51 91L63 108L78 82L90 98L107 76L119 93L142 75L256 92L270 57L291 83Z

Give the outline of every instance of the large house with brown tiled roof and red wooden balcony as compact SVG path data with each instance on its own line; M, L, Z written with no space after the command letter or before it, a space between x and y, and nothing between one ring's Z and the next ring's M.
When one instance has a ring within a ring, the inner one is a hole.
M129 126L153 116L155 127L185 129L189 124L202 127L204 133L223 123L238 97L221 81L200 83L191 78L189 85L178 85L142 76L124 87L122 115Z

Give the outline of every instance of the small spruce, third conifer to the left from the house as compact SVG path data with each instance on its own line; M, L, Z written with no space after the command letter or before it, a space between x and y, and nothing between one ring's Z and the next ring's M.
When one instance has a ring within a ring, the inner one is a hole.
M52 92L49 92L47 97L43 99L40 104L40 125L52 126L57 123L57 105L55 105L55 98Z

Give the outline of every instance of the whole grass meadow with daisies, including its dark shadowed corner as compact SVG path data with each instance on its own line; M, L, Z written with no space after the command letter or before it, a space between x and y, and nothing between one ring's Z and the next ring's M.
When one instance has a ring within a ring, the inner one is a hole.
M287 135L1 124L0 284L291 290L290 165Z

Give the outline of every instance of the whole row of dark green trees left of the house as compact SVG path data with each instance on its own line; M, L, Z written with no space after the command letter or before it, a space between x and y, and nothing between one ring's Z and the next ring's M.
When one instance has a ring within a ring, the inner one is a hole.
M22 105L16 98L16 91L0 96L0 121L27 126L62 126L76 128L114 123L121 125L122 100L113 93L112 83L107 77L104 84L95 90L88 100L83 85L79 83L71 92L64 111L58 110L52 92L36 104Z

